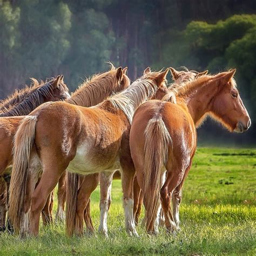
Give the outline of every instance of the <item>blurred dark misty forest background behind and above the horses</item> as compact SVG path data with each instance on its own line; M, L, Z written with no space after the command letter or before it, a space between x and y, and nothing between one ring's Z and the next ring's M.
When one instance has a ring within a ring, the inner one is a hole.
M254 0L0 0L0 99L29 77L63 74L73 91L108 60L131 79L147 66L236 68L252 127L232 134L207 120L199 144L255 146L255 14Z

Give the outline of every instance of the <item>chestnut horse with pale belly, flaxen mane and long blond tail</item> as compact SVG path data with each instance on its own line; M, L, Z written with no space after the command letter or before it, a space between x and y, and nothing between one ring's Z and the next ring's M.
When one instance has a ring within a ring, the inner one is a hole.
M129 128L137 107L165 86L164 72L150 72L130 87L122 68L114 73L123 92L93 107L46 103L21 123L15 136L9 214L24 237L38 235L39 215L49 193L68 168L66 232L80 234L84 208L80 207L78 173L116 170L122 166L126 230L137 235L132 214L135 170L129 151ZM35 188L42 166L42 177ZM132 171L131 171L132 169ZM86 205L86 204L85 204Z

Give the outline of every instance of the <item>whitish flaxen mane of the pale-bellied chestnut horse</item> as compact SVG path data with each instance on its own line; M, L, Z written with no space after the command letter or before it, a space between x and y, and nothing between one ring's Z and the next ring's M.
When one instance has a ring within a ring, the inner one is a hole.
M124 112L129 122L137 107L153 97L157 91L156 77L161 71L149 72L134 81L129 88L105 100ZM166 82L166 81L165 81ZM104 102L103 102L104 103ZM102 104L103 104L102 103Z

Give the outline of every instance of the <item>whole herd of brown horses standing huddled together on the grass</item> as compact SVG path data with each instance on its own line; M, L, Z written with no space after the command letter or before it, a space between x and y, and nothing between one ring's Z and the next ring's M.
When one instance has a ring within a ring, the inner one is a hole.
M174 82L167 84L167 73ZM145 206L145 228L179 231L184 181L197 147L196 128L211 116L231 132L250 117L239 96L235 70L208 75L145 69L132 84L127 68L86 80L69 95L63 76L15 91L0 103L0 228L25 237L56 219L66 233L95 231L90 196L100 183L99 232L107 235L113 179L122 179L125 228ZM64 206L66 204L66 210ZM7 212L7 213L6 213ZM65 212L65 213L64 213Z

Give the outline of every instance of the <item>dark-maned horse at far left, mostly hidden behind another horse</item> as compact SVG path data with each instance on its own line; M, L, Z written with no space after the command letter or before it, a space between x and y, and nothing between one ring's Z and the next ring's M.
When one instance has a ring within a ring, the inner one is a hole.
M0 103L0 230L6 226L8 188L12 166L12 146L19 123L37 106L44 102L65 100L70 97L63 76L39 83L31 78L32 85L16 90Z

